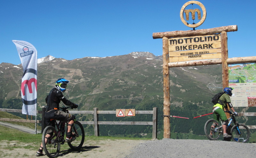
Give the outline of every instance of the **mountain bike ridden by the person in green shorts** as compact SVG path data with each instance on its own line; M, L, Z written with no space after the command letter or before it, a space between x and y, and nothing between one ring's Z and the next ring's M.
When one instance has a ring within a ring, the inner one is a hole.
M225 111L227 112L227 111ZM230 114L230 118L228 119L227 129L230 126L231 122L234 122L234 126L231 128L231 138L233 141L245 143L249 140L250 137L250 130L249 128L242 123L236 122L235 115L232 112L228 112ZM223 135L222 129L222 121L221 126L219 122L214 119L208 120L204 125L204 132L206 137L210 140L217 140L220 135Z

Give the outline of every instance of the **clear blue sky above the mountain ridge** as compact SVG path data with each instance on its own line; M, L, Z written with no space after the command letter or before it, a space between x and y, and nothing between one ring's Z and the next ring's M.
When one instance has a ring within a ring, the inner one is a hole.
M192 30L180 20L188 1L0 0L0 63L21 63L12 40L33 44L38 58L72 60L133 51L162 55L162 39L152 34ZM207 16L196 29L237 25L238 31L228 32L228 57L256 56L255 0L198 1Z

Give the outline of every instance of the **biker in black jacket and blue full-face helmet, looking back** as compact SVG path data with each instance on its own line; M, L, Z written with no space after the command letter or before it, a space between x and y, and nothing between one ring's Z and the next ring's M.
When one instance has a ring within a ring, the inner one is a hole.
M68 99L66 99L62 92L66 91L67 87L67 81L64 78L60 78L56 81L55 86L47 95L45 98L45 102L47 103L46 110L45 110L45 123L46 126L53 126L55 127L54 119L63 121L63 122L68 122L68 130L67 130L67 137L66 137L66 142L72 141L72 127L74 125L74 120L76 119L74 115L65 113L61 110L59 110L59 104L60 101L62 101L65 105L71 106L72 108L77 108L78 105L72 103ZM52 135L51 133L47 133L45 137L49 138ZM47 141L47 138L45 141ZM41 144L39 150L36 152L36 156L41 156L43 154L43 144Z

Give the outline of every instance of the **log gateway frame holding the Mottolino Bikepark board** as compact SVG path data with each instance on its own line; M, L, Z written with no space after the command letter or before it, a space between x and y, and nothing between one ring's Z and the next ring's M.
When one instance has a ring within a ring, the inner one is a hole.
M189 1L186 5L192 3L197 1ZM170 115L170 67L222 64L222 86L225 88L228 87L228 64L256 62L256 56L228 58L227 32L231 31L237 31L237 25L153 33L153 39L163 38L164 115ZM171 136L170 117L167 116L164 117L164 138Z

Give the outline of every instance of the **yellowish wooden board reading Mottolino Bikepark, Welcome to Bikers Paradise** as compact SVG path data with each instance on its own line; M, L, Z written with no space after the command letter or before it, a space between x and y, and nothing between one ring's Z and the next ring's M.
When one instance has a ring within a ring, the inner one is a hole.
M169 38L168 50L170 62L220 59L220 34Z

